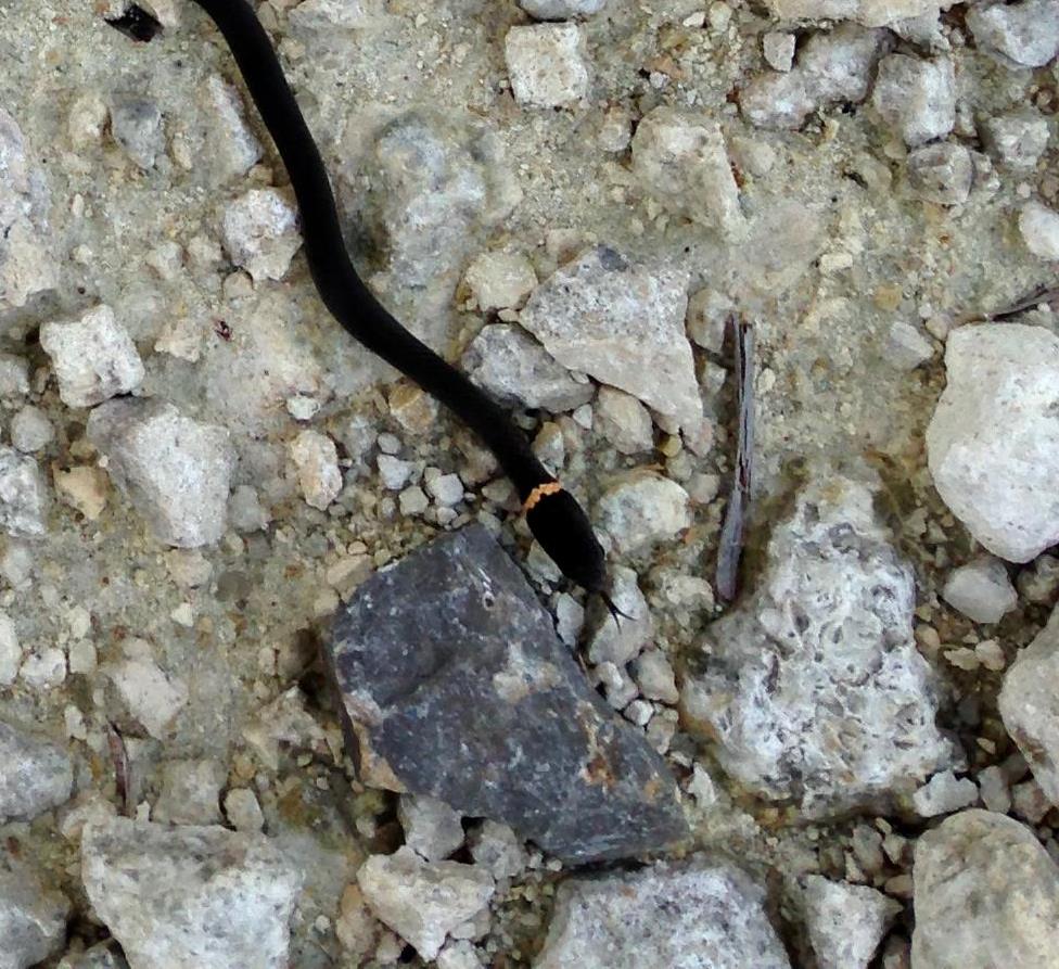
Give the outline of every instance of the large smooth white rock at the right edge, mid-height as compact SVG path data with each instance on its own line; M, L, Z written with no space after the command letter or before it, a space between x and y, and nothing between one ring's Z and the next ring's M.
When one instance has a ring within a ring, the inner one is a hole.
M1041 327L960 327L927 429L934 486L986 549L1028 562L1059 541L1059 339Z

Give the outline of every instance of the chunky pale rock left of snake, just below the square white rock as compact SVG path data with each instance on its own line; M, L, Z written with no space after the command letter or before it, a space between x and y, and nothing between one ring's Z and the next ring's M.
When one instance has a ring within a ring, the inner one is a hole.
M234 451L225 428L161 400L111 400L88 419L106 470L167 545L194 548L224 534Z

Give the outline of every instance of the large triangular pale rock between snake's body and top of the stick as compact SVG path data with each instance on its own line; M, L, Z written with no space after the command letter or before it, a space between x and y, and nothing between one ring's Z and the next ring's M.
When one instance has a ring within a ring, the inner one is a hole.
M702 403L684 330L687 289L682 270L636 265L597 246L537 286L522 326L564 367L698 430Z

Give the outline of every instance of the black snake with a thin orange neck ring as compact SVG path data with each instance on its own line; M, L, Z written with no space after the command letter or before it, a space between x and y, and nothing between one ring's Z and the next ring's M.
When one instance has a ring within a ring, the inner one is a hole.
M604 592L603 549L585 510L540 463L507 411L408 332L354 268L327 168L268 34L246 0L195 0L220 30L283 160L302 218L305 254L320 298L342 327L471 428L518 488L526 523L563 574Z

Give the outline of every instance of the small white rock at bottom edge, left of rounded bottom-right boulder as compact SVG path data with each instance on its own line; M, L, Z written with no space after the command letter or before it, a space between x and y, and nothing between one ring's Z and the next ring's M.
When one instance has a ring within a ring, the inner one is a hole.
M867 969L901 905L867 885L805 879L805 923L819 969Z

